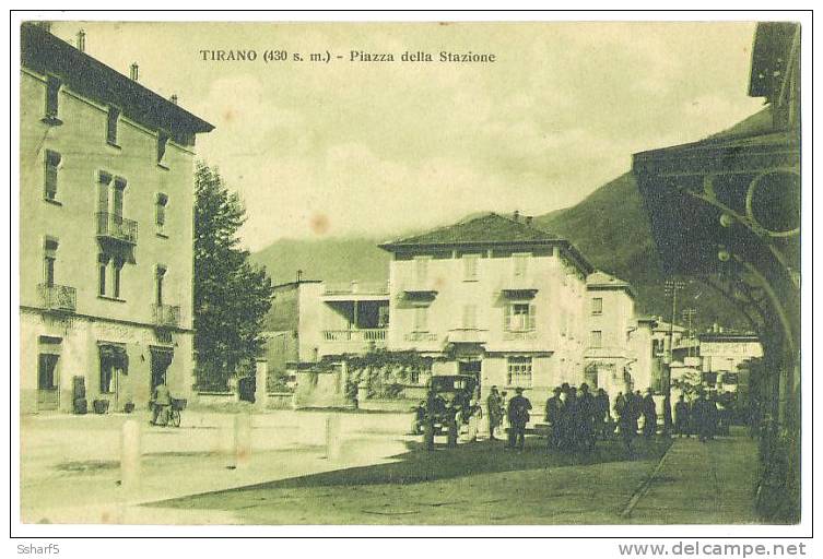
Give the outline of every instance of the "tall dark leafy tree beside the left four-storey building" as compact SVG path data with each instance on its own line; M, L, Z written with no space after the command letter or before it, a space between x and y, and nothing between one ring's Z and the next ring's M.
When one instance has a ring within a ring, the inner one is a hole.
M216 169L197 164L195 182L195 349L200 388L225 388L260 350L273 289L249 262L237 230L246 209Z

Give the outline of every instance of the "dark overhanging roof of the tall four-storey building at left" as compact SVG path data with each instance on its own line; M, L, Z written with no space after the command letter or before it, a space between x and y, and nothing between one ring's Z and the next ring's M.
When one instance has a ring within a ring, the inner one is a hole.
M72 91L117 106L124 115L171 133L211 132L214 126L32 23L20 29L21 64L54 74Z

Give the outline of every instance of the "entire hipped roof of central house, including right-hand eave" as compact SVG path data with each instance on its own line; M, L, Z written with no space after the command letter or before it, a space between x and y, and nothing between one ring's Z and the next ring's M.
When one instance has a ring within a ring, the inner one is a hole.
M472 217L427 233L388 241L379 247L389 252L403 249L459 248L462 246L505 247L510 245L557 246L585 273L595 269L568 240L545 231L524 217L513 219L494 212Z

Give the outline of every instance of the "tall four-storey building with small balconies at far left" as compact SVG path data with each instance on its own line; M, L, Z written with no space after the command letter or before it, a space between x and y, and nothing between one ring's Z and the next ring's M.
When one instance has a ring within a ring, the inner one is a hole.
M21 51L21 409L144 406L163 378L185 397L193 147L213 127L45 28L24 24Z

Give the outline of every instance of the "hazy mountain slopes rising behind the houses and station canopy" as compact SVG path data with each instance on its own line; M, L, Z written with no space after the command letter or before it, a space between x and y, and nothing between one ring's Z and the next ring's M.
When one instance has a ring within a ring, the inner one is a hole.
M766 108L710 138L756 133L771 121ZM630 282L637 290L638 312L671 318L671 300L663 288L667 276L631 171L574 206L536 216L534 225L568 239L595 266ZM266 265L275 284L294 281L297 270L306 280L380 282L388 277L389 263L389 254L377 248L381 240L385 239L283 239L254 253L252 260ZM718 322L748 328L731 304L698 282L690 283L679 294L678 312L690 307L697 310L701 326ZM680 317L675 319L680 321Z

